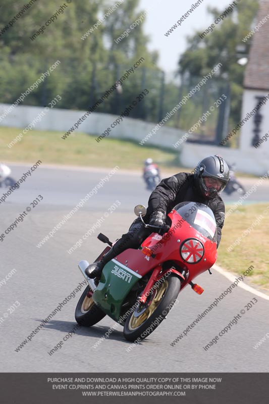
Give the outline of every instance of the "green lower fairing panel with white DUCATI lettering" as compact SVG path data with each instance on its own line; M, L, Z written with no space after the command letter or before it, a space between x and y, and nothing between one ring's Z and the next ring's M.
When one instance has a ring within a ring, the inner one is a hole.
M92 298L104 313L118 321L127 294L140 278L141 275L112 260L104 266Z

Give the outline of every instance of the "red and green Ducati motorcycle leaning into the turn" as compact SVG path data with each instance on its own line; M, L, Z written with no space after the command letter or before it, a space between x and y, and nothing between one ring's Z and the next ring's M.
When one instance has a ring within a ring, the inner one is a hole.
M145 207L136 206L135 213L143 222ZM167 232L163 236L151 233L139 249L129 248L119 254L104 266L97 284L85 275L89 263L80 261L88 286L76 307L78 324L92 326L108 315L124 326L127 340L140 341L166 318L185 286L191 285L198 294L203 292L192 281L216 262L214 215L203 204L183 202L168 218L170 225L165 225ZM101 233L98 238L113 245ZM96 261L109 249L106 247Z

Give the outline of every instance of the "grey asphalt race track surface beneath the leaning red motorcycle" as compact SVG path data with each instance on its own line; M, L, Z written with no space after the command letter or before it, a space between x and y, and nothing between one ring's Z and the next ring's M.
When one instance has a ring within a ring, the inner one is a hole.
M18 180L29 166L11 165ZM130 343L119 326L110 338L94 347L115 323L109 317L91 328L79 328L58 350L49 355L63 337L76 326L74 312L83 289L75 294L42 329L18 346L60 302L84 281L77 263L93 262L104 248L97 238L101 231L112 241L125 233L137 204L147 205L149 192L141 175L118 170L69 220L39 248L36 246L90 192L110 170L57 169L41 165L31 177L0 204L3 234L15 219L30 207L27 216L0 242L1 372L268 372L269 340L253 346L269 332L269 301L236 287L218 306L195 325L175 346L171 342L222 294L231 281L217 272L197 278L204 289L197 295L190 287L179 294L178 304L162 324L140 345L127 351ZM171 173L171 175L174 173ZM243 179L249 189L257 179ZM264 181L265 182L265 181ZM7 189L0 188L0 198ZM41 195L41 197L38 196ZM240 195L224 195L226 203ZM31 205L39 198L37 205ZM119 201L117 203L117 200ZM268 201L268 187L261 184L248 203ZM109 213L109 208L117 208ZM116 204L116 205L114 205ZM105 216L104 216L105 215ZM72 254L69 250L101 217L100 227ZM245 306L257 299L251 309ZM203 346L219 334L245 309L231 330L208 350ZM269 334L268 334L269 335ZM31 340L30 340L31 339ZM18 351L15 349L17 348Z

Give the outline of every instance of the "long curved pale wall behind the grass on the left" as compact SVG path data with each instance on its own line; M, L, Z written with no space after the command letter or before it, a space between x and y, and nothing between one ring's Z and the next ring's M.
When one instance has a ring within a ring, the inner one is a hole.
M40 114L45 112L41 107L18 106L15 107L4 119L1 115L9 108L8 104L0 104L0 126L17 127L24 129ZM49 109L47 114L41 118L40 122L35 124L34 129L40 130L59 130L66 132L84 115L86 111L62 110L54 107ZM85 132L98 137L107 127L117 119L117 115L91 113L85 121L79 125L76 132ZM109 137L117 137L121 139L133 139L140 142L154 127L155 123L144 122L139 119L125 117L123 121L109 133ZM18 131L18 134L20 131ZM145 143L173 148L173 144L185 132L175 128L163 126L158 129ZM60 135L59 135L60 137ZM174 149L175 150L175 149ZM180 150L180 146L177 148Z

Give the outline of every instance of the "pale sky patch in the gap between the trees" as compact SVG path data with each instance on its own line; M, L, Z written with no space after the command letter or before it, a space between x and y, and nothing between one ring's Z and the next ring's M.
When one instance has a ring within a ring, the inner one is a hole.
M206 11L208 6L224 11L231 3L229 0L203 0L180 27L169 36L165 33L177 23L197 0L140 0L139 9L147 11L144 32L150 36L148 48L159 52L158 66L166 72L177 70L179 56L187 46L186 36L196 29L205 30L213 17Z

